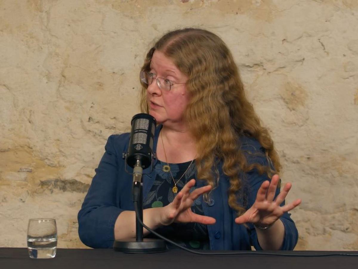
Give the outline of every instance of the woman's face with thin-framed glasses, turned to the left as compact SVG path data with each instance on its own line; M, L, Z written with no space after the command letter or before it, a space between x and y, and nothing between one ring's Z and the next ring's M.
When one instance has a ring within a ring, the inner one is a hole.
M154 74L154 77L162 77L174 83L187 82L188 80L188 77L179 71L173 61L158 50L153 53L150 72ZM183 113L188 101L185 84L174 84L170 91L159 89L155 79L148 85L149 114L164 126L183 124Z

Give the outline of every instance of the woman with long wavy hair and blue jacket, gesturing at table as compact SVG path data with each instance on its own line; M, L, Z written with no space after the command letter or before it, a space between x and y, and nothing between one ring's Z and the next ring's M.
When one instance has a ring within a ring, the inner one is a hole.
M196 249L292 250L297 230L280 192L280 162L247 101L224 42L202 29L165 34L140 73L141 108L155 117L155 169L144 176L144 223ZM78 213L91 247L135 237L132 178L122 152L129 134L108 138ZM151 236L144 229L145 236Z

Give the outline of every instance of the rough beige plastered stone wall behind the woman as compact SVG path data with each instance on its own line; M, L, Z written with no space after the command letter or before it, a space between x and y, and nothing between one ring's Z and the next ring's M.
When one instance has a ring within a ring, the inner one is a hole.
M77 212L113 133L139 112L151 42L185 26L232 50L292 182L297 250L358 249L358 1L0 0L0 246L29 218L85 247Z

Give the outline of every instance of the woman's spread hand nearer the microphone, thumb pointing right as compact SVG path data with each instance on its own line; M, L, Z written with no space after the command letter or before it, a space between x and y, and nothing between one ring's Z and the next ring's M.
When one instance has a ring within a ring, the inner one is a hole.
M211 190L211 186L207 185L189 193L189 190L194 187L194 185L195 179L190 180L175 196L173 202L162 208L160 214L161 225L169 225L173 222L198 222L202 224L214 224L216 222L212 217L193 213L190 208L195 199Z

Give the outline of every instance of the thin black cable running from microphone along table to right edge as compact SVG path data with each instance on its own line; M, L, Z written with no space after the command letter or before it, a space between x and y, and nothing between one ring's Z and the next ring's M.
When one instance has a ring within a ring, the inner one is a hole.
M140 219L139 217L139 212L138 212L138 202L135 201L134 202L134 210L135 210L135 214L136 214L136 218L139 221L139 223L146 228L148 231L150 231L151 233L153 233L154 235L158 236L160 239L163 239L166 242L169 242L170 244L173 244L174 246L179 247L180 249L183 249L185 251L188 251L190 253L193 254L198 254L198 255L207 255L207 256L227 256L227 255L265 255L265 256L288 256L288 257L326 257L326 256L355 256L357 257L358 254L350 254L350 253L343 253L343 252L338 252L338 253L327 253L327 254L284 254L284 253L271 253L271 252L262 252L262 251L231 251L231 252L214 252L214 253L209 253L209 252L200 252L200 251L195 251L192 249L188 249L187 247L183 247L177 243L175 243L174 241L171 241L170 239L160 235L159 233L153 231L151 228L147 227Z

